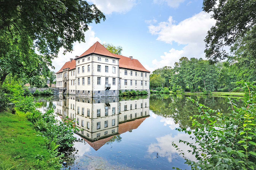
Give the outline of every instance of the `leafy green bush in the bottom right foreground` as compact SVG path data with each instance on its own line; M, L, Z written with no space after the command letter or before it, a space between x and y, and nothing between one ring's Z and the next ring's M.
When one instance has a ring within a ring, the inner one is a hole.
M256 82L239 82L245 86L244 107L237 107L229 99L231 114L213 110L198 101L190 99L198 106L200 115L190 117L193 128L177 128L185 132L195 143L184 140L190 146L197 161L181 155L193 170L246 170L256 168ZM200 123L202 122L203 123ZM193 129L193 130L192 130ZM173 143L179 150L178 146ZM179 168L173 168L179 169Z

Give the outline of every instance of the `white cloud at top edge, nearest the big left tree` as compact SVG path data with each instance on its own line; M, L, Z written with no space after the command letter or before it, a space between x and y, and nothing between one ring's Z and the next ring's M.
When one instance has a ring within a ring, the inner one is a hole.
M136 5L137 0L88 0L89 2L96 5L104 14L111 14L112 12L126 13Z

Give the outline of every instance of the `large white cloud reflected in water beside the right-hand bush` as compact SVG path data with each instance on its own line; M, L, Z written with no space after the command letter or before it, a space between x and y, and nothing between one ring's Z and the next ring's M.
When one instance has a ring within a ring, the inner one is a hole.
M172 162L172 159L175 158L175 155L180 154L177 148L174 148L171 143L174 142L176 145L178 145L181 150L184 152L184 156L190 160L196 160L196 158L192 155L192 152L187 152L187 150L191 150L187 144L179 143L179 140L185 140L190 143L195 143L194 140L189 138L188 134L179 133L172 137L172 135L165 135L163 137L156 138L157 143L150 144L148 147L147 152L149 154L158 153L161 157L167 157L169 162Z

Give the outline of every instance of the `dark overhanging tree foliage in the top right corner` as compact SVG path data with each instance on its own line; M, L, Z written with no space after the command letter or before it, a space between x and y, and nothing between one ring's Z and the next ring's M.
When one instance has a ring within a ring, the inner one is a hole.
M213 12L216 24L206 36L206 57L213 62L223 60L228 54L224 46L234 44L239 38L251 35L251 49L256 47L256 3L255 0L203 0L203 10ZM254 50L254 54L256 54ZM255 58L256 55L254 55Z

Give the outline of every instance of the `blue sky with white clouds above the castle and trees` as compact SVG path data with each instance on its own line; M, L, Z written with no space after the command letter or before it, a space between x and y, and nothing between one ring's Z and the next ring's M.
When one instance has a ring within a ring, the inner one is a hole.
M55 72L70 58L80 56L96 41L122 46L123 56L133 56L149 71L174 66L181 57L205 58L204 39L215 24L202 11L202 0L88 0L106 16L90 24L86 43L74 43L74 51L53 60ZM51 69L53 70L53 69Z

